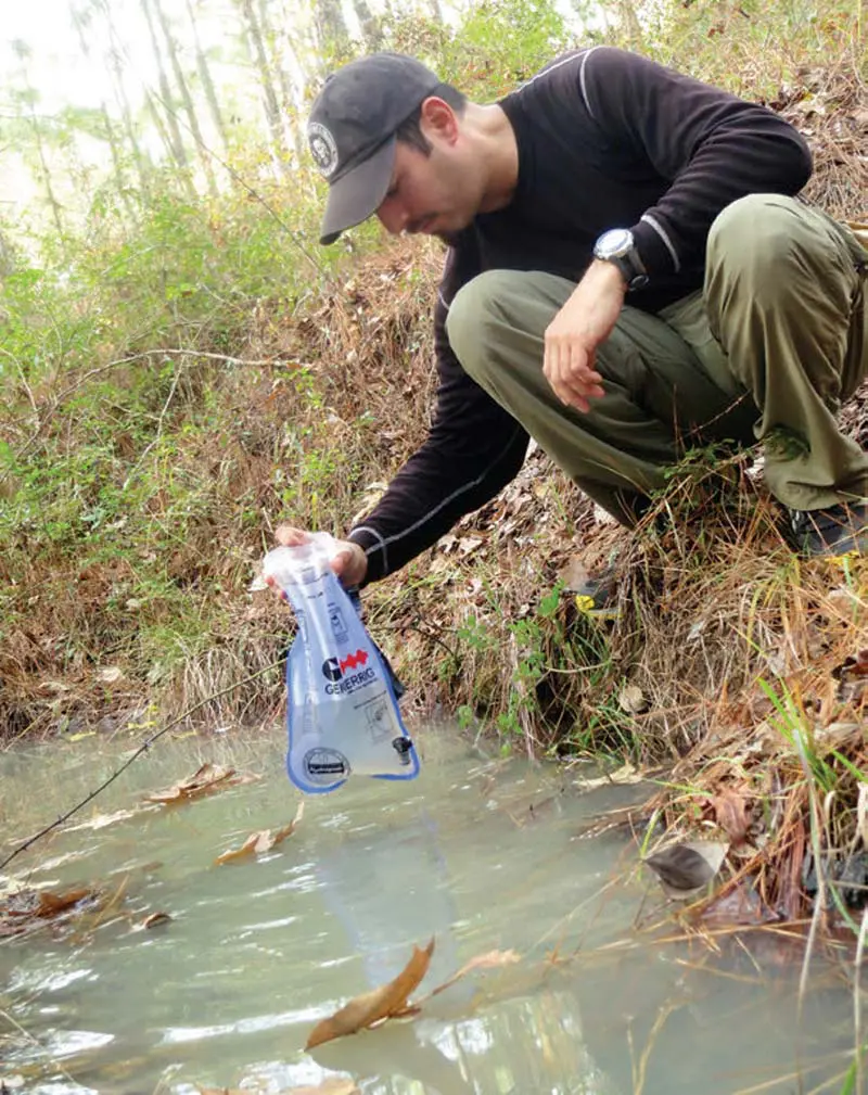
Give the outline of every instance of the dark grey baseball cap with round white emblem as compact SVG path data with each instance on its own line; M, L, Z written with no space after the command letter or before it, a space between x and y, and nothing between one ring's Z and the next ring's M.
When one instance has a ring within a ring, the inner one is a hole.
M320 243L334 243L378 208L395 162L395 130L440 79L404 54L371 54L329 76L308 122L308 143L328 181Z

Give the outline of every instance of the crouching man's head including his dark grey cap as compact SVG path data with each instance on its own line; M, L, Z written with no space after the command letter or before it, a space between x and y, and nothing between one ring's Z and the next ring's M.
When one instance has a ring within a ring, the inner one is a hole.
M391 232L448 234L468 223L478 186L460 148L464 108L461 92L401 54L373 54L329 77L308 124L329 184L320 242L374 212Z

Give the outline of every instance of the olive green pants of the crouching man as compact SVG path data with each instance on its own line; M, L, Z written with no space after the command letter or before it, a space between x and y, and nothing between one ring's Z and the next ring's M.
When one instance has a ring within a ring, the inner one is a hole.
M598 348L605 394L587 414L542 371L545 328L572 283L481 274L455 296L447 333L470 376L624 523L687 449L722 440L764 442L775 497L820 509L868 497L868 454L835 419L868 373L866 260L819 210L741 198L711 226L701 292L658 315L624 307Z

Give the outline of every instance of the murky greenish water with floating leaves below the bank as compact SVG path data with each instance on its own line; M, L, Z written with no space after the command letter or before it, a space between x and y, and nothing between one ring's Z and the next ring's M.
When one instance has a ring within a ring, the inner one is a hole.
M635 849L580 838L636 788L578 794L563 771L486 758L448 729L419 742L415 783L309 798L283 844L222 866L221 852L296 811L282 737L159 742L72 822L86 827L14 864L54 890L101 883L118 902L71 936L0 942L0 1079L40 1095L278 1093L337 1077L364 1095L841 1090L853 996L834 967L798 1016L785 937L668 942L649 930L662 906L629 871ZM0 852L124 748L92 738L0 756ZM204 760L262 779L100 823ZM172 920L142 930L158 911ZM415 1021L303 1050L321 1018L431 936L423 989L493 949L522 960L463 979Z

